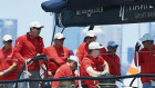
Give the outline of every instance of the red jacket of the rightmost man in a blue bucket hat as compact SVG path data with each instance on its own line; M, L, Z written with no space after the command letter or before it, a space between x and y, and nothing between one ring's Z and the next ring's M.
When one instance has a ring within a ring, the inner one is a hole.
M134 58L134 61L137 66L136 56ZM152 51L146 48L143 48L138 51L138 66L141 66L141 74L155 74L155 46L153 47ZM141 78L142 82L151 82L151 79L153 78Z

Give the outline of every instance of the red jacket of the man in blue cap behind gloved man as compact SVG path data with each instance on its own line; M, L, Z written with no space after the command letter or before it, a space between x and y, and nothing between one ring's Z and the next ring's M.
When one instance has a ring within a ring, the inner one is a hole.
M111 75L121 76L121 63L117 55L104 55L103 58L108 63Z

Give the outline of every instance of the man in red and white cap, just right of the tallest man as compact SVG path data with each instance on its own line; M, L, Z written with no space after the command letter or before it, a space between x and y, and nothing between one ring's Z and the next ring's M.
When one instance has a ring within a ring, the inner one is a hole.
M65 63L69 58L70 50L63 46L64 39L65 37L62 33L58 32L54 36L54 45L44 49L44 53L48 57L49 77L54 76L58 68ZM51 61L50 59L55 61L56 63ZM46 71L44 62L42 63L42 68L44 71Z

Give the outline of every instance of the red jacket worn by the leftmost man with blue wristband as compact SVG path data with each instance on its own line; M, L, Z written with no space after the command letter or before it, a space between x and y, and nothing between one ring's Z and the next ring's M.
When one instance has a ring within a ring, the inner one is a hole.
M13 59L13 48L11 47L7 51L3 48L0 49L0 71L7 70L12 63L18 63L17 59ZM0 80L16 80L18 76L18 69L12 72L6 74Z

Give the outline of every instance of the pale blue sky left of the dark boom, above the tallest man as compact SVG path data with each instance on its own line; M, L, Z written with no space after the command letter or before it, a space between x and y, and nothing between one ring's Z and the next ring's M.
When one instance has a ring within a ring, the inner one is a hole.
M44 0L1 0L0 19L18 20L18 37L24 35L30 29L32 21L40 21L44 25L41 37L44 39L45 47L50 46L52 38L52 16L41 9Z

